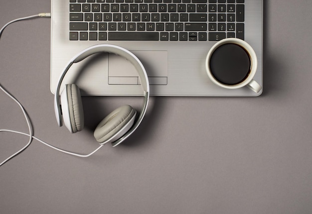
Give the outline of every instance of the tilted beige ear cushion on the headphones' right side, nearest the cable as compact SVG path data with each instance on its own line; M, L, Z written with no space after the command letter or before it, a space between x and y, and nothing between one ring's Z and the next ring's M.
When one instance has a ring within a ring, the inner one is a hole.
M129 106L125 105L117 108L107 115L94 130L94 137L99 143L103 143L117 134L122 128L128 128L124 130L128 131L130 127L126 125L136 115L137 111Z

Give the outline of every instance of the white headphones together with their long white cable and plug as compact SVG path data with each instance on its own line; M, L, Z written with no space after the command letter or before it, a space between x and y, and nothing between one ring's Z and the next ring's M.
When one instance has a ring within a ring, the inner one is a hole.
M50 13L40 13L37 15L14 19L8 22L7 24L5 24L0 29L0 35L3 29L10 23L13 23L19 20L40 17L40 16L50 17ZM133 53L119 46L109 45L109 44L107 45L101 44L101 45L95 45L95 46L89 47L85 49L84 51L80 52L70 62L68 62L64 71L60 75L59 81L57 83L55 97L54 97L54 109L55 109L55 115L56 115L58 125L61 126L64 120L64 124L70 130L70 132L74 133L74 132L82 130L84 126L84 118L83 118L82 102L81 102L79 88L74 84L66 85L60 97L59 96L60 87L65 77L65 74L67 73L69 68L72 66L72 64L76 62L80 62L92 54L100 53L100 52L110 52L110 53L114 53L122 57L125 57L137 69L139 78L141 81L141 86L144 90L144 94L143 94L144 102L143 102L143 106L142 106L139 116L136 118L137 112L128 105L117 108L112 113L110 113L107 117L105 117L102 120L102 122L100 122L100 124L98 125L98 127L96 128L94 132L94 136L96 140L101 145L98 146L97 149L95 149L93 152L89 154L86 154L86 155L77 154L77 153L73 153L73 152L69 152L69 151L65 151L63 149L57 148L35 137L33 135L33 127L32 127L30 118L27 115L24 107L20 104L20 102L17 99L15 99L12 95L10 95L10 93L8 93L0 85L0 90L3 91L8 97L10 97L22 110L24 117L26 119L27 125L28 125L28 129L29 129L29 133L24 133L24 132L10 130L10 129L0 129L0 132L12 132L12 133L26 135L29 137L28 143L25 146L23 146L21 149L19 149L17 152L10 155L4 161L0 162L0 166L2 166L8 160L10 160L11 158L15 157L16 155L24 151L30 145L32 139L36 139L37 141L43 143L44 145L49 146L50 148L53 148L57 151L60 151L66 154L70 154L70 155L74 155L78 157L89 157L92 154L94 154L96 151L98 151L102 146L104 146L105 143L111 142L113 146L117 146L119 143L121 143L126 138L128 138L139 127L146 113L148 103L149 103L149 98L150 98L150 86L149 86L148 76L146 74L143 64ZM63 117L62 117L62 114L63 114Z

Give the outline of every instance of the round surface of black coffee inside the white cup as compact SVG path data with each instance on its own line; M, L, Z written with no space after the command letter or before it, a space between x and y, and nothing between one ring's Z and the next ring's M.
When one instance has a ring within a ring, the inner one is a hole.
M225 85L243 82L251 69L250 57L237 44L219 46L211 55L210 70L216 80Z

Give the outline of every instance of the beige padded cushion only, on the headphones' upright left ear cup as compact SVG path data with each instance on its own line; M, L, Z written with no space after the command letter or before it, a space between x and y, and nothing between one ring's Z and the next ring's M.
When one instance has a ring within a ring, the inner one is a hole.
M84 116L80 90L75 84L68 84L65 87L68 102L69 120L72 132L75 133L77 131L81 131L84 127Z

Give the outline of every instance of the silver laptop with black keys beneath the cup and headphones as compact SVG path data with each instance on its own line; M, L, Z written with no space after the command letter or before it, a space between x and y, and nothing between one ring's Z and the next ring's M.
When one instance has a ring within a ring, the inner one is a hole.
M223 89L205 70L209 49L236 37L256 52L262 86L263 0L51 0L51 92L75 55L96 44L133 52L147 70L152 96L259 96ZM76 63L62 84L82 95L139 96L140 79L124 58L95 54Z

